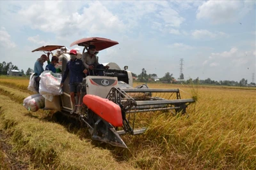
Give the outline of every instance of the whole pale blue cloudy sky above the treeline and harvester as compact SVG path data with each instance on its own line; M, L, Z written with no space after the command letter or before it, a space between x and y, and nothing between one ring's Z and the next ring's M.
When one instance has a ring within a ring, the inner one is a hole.
M43 45L86 37L119 44L99 53L140 74L252 81L256 74L255 1L0 1L0 62L33 68ZM256 76L255 76L256 79Z

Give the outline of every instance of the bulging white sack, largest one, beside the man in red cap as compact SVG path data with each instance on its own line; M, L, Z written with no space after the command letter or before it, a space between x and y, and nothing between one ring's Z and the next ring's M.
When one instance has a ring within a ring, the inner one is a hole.
M44 71L40 74L39 93L42 95L58 96L62 94L60 87L61 74Z

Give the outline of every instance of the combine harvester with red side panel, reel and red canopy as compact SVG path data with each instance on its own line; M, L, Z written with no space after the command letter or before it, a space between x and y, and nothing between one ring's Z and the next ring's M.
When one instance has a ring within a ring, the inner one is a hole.
M70 46L83 46L85 52L89 45L95 45L99 52L117 44L118 42L106 38L83 38ZM70 55L63 53L60 57L63 74ZM54 96L60 99L58 108L61 108L61 113L76 117L86 124L92 139L127 148L120 135L145 132L147 127L143 127L143 118L148 119L145 114L151 115L152 112L161 111L186 113L188 105L195 102L193 99L181 99L179 89L148 89L147 85L133 88L132 74L131 71L127 71L127 66L120 69L114 62L104 65L109 66L109 69L104 69L104 76L86 76L81 83L81 113L70 115L73 108L68 77L63 83L63 94Z

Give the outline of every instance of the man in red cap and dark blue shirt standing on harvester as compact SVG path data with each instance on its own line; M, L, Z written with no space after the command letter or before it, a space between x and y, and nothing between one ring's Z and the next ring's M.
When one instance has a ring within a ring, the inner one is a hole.
M75 92L77 94L77 103L80 105L80 83L83 81L84 73L87 73L87 69L85 69L82 60L79 60L76 58L77 51L76 50L70 50L69 52L70 60L67 62L66 69L64 71L64 74L61 79L60 87L63 87L63 83L66 80L68 73L69 73L69 91L70 91L70 98L72 101L72 108L73 110L70 111L70 114L76 112L76 99L75 99ZM78 112L80 111L79 110Z

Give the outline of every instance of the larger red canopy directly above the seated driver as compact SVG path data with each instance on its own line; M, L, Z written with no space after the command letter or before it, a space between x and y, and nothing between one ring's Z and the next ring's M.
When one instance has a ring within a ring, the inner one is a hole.
M77 41L74 41L70 46L73 45L79 45L79 46L86 46L88 47L89 45L95 45L96 50L104 50L106 48L109 48L110 46L117 45L118 42L112 41L111 39L107 38L100 38L100 37L91 37L91 38L82 38Z

